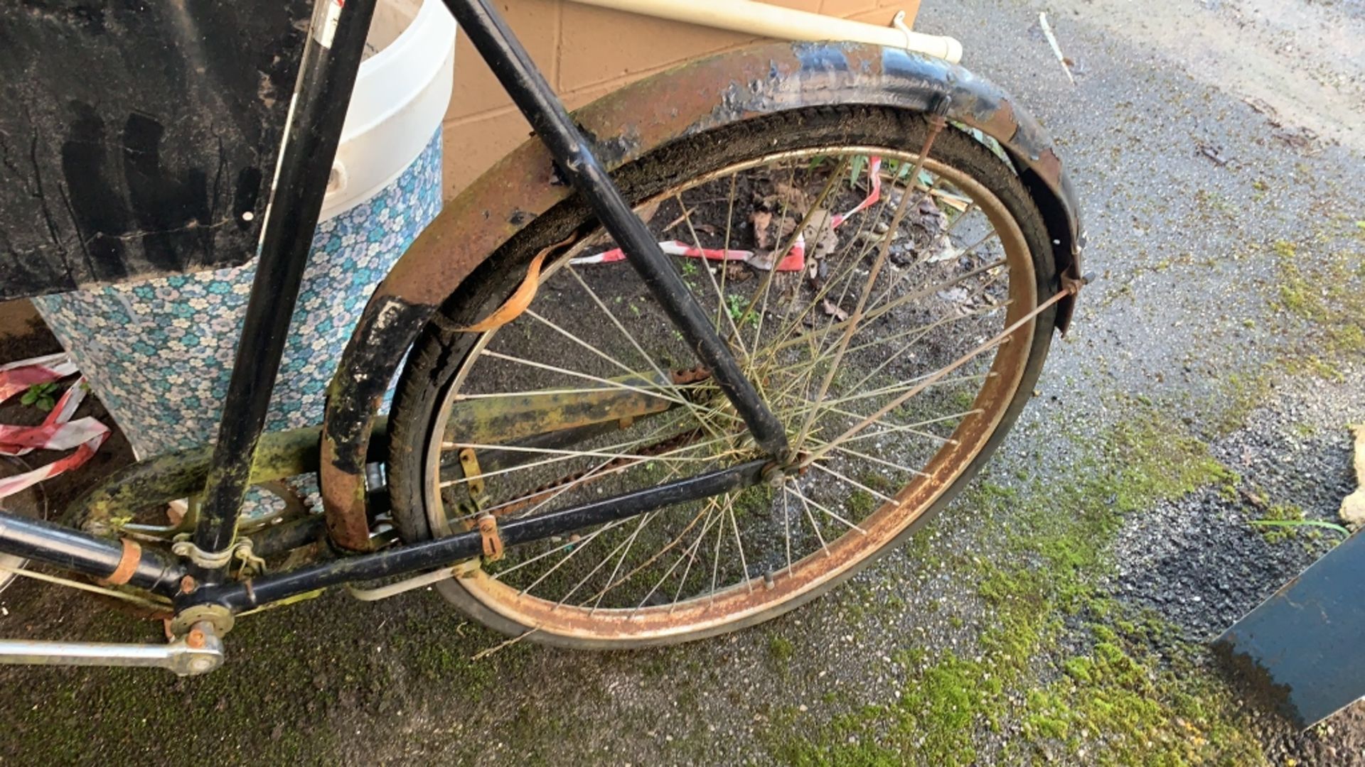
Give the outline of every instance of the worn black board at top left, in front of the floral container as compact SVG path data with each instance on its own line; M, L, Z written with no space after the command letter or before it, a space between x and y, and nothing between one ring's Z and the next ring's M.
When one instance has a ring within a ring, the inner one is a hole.
M0 300L250 259L310 10L0 0Z

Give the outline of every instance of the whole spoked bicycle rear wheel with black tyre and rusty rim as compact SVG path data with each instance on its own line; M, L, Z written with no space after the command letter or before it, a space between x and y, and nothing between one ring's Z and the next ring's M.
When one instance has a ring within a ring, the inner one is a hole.
M1043 218L1010 167L949 127L912 179L925 135L925 120L901 111L797 111L688 138L618 172L784 422L803 471L781 487L509 550L441 594L494 629L534 629L530 639L551 644L685 641L823 594L942 508L1028 400L1054 315L1025 318L1057 274ZM459 330L489 317L568 235L573 244L543 265L524 313ZM565 202L442 307L392 418L393 515L405 539L762 457L614 247L586 206ZM468 416L471 404L511 414L546 401L591 415L491 431Z

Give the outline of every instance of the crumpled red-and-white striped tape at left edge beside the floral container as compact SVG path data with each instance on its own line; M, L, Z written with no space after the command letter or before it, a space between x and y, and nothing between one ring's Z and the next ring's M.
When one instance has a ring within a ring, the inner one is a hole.
M51 384L75 373L76 366L64 353L0 364L0 401L26 392L30 386ZM90 416L71 420L85 396L85 378L78 378L38 426L0 423L0 454L4 456L75 448L74 453L48 465L0 479L0 498L14 495L44 479L79 468L109 438L109 427Z

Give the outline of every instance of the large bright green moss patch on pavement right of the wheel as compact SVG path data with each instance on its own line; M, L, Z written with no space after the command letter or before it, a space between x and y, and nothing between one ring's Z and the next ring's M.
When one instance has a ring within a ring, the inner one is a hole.
M986 519L1010 519L992 545L996 555L960 562L990 607L971 656L919 647L898 652L906 669L900 700L800 732L781 753L797 764L981 763L998 755L980 753L976 733L1020 722L1025 742L1011 748L1069 749L1076 762L1263 762L1241 734L1226 691L1194 689L1160 659L1133 650L1158 637L1163 646L1181 640L1095 590L1125 516L1209 484L1230 487L1237 475L1156 409L1115 426L1091 453L1074 479L1020 489L983 482L961 501ZM1063 631L1066 614L1092 621L1091 650L1063 662L1055 680L1031 682L1031 663ZM1010 695L1021 686L1031 689L1025 701Z

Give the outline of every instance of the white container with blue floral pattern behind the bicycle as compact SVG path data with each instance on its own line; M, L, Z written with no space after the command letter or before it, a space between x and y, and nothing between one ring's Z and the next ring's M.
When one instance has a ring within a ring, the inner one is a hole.
M438 0L388 5L375 14L370 41L378 50L362 64L347 113L269 431L322 420L326 385L370 293L441 210L440 124L450 96L455 22ZM394 67L404 64L425 71L396 81ZM214 438L254 274L251 262L42 296L34 304L136 456L147 457Z

